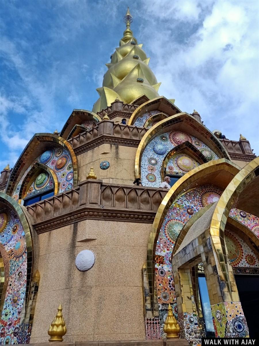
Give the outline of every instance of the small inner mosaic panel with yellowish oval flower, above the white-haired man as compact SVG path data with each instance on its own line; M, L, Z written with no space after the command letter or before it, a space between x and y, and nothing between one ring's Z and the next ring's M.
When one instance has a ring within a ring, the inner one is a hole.
M184 174L200 164L186 154L174 154L166 165L166 174Z

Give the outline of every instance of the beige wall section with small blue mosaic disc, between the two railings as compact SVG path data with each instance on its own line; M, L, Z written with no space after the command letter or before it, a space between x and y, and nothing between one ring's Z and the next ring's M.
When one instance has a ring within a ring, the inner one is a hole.
M136 147L102 144L77 156L79 181L86 179L91 166L105 183L132 184L135 179ZM109 161L107 170L100 169L102 161Z

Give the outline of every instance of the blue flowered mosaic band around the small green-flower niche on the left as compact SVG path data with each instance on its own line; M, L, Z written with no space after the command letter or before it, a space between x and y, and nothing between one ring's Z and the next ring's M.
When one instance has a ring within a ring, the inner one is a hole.
M19 181L16 187L15 192L12 195L13 199L15 199L17 202L19 199L19 192L20 192L22 181L36 162L45 164L46 166L50 167L55 172L58 183L59 183L59 193L73 188L74 174L73 174L73 164L72 164L70 154L64 148L55 147L39 155L36 158L36 160L34 160L32 164L28 167L26 172L23 174L21 180ZM38 177L36 178L36 180L37 179Z

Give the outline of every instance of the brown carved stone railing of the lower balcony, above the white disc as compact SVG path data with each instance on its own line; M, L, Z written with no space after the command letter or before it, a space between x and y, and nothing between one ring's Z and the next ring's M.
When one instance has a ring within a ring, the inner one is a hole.
M31 204L27 210L37 233L87 218L151 223L167 191L88 179L75 189Z

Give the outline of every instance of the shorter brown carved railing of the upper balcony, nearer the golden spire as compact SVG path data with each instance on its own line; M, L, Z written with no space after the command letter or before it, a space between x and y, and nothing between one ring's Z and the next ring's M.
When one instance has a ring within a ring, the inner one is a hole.
M68 142L71 143L76 155L102 143L137 147L146 131L146 128L114 124L113 121L105 120L96 127L70 138Z

